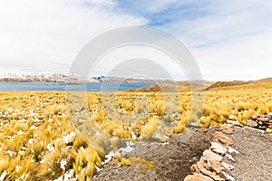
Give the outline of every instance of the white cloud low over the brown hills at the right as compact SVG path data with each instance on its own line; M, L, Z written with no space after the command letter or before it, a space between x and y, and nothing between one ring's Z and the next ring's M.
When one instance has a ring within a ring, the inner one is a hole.
M271 77L272 33L261 33L192 49L206 80L257 80Z

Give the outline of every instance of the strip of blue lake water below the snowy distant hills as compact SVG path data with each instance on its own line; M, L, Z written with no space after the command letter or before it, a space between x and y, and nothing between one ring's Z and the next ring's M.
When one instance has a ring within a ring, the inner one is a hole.
M75 90L111 92L116 90L130 90L149 86L151 83L114 83L114 82L14 82L0 81L0 90Z

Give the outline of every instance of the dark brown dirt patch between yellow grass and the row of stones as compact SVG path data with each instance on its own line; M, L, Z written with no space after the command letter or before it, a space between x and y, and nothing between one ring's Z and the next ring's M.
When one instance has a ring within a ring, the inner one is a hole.
M141 162L132 162L131 167L121 167L117 161L103 166L93 180L183 180L189 175L189 167L196 163L203 151L210 146L211 135L216 129L195 131L189 138L172 136L169 145L141 143L127 157L141 157L153 161L154 168L142 168Z

